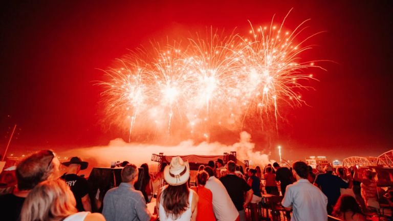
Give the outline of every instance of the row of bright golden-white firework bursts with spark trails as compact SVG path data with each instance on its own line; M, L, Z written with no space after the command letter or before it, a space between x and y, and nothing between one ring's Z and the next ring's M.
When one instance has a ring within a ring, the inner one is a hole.
M159 125L166 124L169 135L173 126L190 128L192 133L195 124L202 122L207 138L215 119L228 114L236 118L237 113L243 127L245 118L257 113L263 128L263 112L269 119L269 112L274 111L278 134L277 100L301 105L295 89L308 87L299 79L313 79L302 71L317 67L297 62L299 54L311 48L300 47L311 36L300 43L295 40L303 23L289 32L283 31L283 23L276 29L272 20L269 29L251 26L250 37L233 33L222 37L210 30L207 38L198 34L189 38L185 50L176 41L165 47L152 42L153 50L138 49L128 60L120 60L121 68L106 72L111 80L99 83L107 88L102 93L107 114L120 121L133 116L129 141L137 114L143 121L156 122L155 136Z

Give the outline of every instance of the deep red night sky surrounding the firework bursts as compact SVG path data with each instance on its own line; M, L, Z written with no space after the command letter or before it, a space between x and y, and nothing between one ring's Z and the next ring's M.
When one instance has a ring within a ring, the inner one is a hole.
M302 91L307 105L283 107L279 136L250 130L257 150L278 160L375 156L393 147L391 1L2 1L0 5L0 153L8 127L21 128L10 148L64 150L127 139L102 129L103 72L149 40L187 37L206 28L246 35L293 8L285 27L311 19L315 45L302 54L327 70ZM246 129L247 130L247 129ZM240 131L214 132L232 144ZM167 145L167 143L164 143Z

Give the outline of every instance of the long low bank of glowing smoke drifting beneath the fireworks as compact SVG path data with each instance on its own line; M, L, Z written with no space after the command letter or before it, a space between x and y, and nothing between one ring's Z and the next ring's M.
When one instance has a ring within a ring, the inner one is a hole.
M186 140L176 146L160 146L154 144L126 143L122 139L112 140L108 146L96 146L82 149L72 149L62 152L63 156L78 156L90 163L92 167L109 167L113 161L128 161L137 166L142 163L154 164L151 161L152 153L164 153L167 156L196 155L223 155L224 152L236 151L237 159L248 160L250 166L265 166L275 161L269 160L268 154L263 151L255 151L255 144L251 141L251 135L246 131L240 133L239 142L233 145L224 145L219 142L202 142L195 144L192 140ZM155 168L155 167L151 167ZM85 171L87 172L87 171ZM83 172L82 172L83 173Z

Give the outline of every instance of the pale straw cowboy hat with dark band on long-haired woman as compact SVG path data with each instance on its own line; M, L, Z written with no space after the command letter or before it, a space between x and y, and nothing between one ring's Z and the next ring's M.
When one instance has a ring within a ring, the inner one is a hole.
M184 162L180 157L173 157L169 166L164 169L164 179L172 186L179 186L188 181L190 177L190 166L188 161Z

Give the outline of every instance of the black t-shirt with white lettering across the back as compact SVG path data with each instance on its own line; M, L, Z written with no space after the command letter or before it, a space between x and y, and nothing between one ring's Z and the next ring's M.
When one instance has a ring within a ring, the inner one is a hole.
M66 174L61 176L61 178L71 187L71 191L75 196L76 208L78 211L84 211L82 197L89 193L88 181L76 174Z

